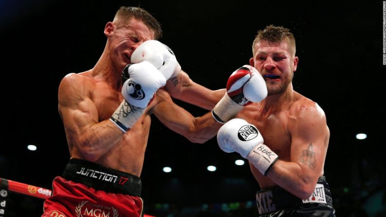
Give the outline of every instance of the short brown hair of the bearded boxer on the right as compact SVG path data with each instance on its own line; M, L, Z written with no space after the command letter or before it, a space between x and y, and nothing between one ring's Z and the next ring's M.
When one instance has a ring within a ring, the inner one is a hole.
M280 44L283 40L287 40L288 44L292 47L292 54L295 56L296 53L296 43L295 37L290 32L289 29L282 26L269 25L266 26L264 30L259 30L253 40L252 44L252 53L253 56L256 53L256 44L260 41L267 41L273 44Z

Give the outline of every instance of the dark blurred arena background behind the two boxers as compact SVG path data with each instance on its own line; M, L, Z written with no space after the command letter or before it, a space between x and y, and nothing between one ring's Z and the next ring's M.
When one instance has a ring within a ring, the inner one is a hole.
M228 75L248 64L258 30L291 29L299 57L294 89L324 109L331 131L325 175L337 216L386 216L382 1L0 0L0 178L51 189L70 157L58 85L66 74L95 65L105 24L120 6L140 6L156 17L160 41L193 81L211 89L224 88ZM195 116L206 112L175 102ZM368 137L357 140L357 133ZM28 150L30 144L37 150ZM153 117L141 175L145 213L256 215L259 186L237 159L215 139L190 143ZM165 166L172 172L164 173ZM17 194L9 200L8 216L42 213L43 200Z

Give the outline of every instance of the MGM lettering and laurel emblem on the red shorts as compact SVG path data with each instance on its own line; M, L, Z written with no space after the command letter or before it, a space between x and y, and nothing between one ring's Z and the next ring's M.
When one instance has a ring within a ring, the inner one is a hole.
M88 203L83 200L75 207L77 217L118 217L118 210L113 206L104 206L99 204Z

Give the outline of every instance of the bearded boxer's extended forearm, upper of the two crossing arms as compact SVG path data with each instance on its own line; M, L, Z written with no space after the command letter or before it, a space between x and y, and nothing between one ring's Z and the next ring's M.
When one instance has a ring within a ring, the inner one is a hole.
M225 94L225 89L210 90L193 82L182 70L177 77L167 81L165 89L173 98L207 110L211 110Z

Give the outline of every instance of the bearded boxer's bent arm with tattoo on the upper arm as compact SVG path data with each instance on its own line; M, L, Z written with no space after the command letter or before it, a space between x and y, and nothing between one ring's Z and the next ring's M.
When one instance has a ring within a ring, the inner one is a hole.
M288 128L292 138L290 162L278 160L267 176L295 196L307 199L323 175L330 131L323 110L314 102L302 107Z

